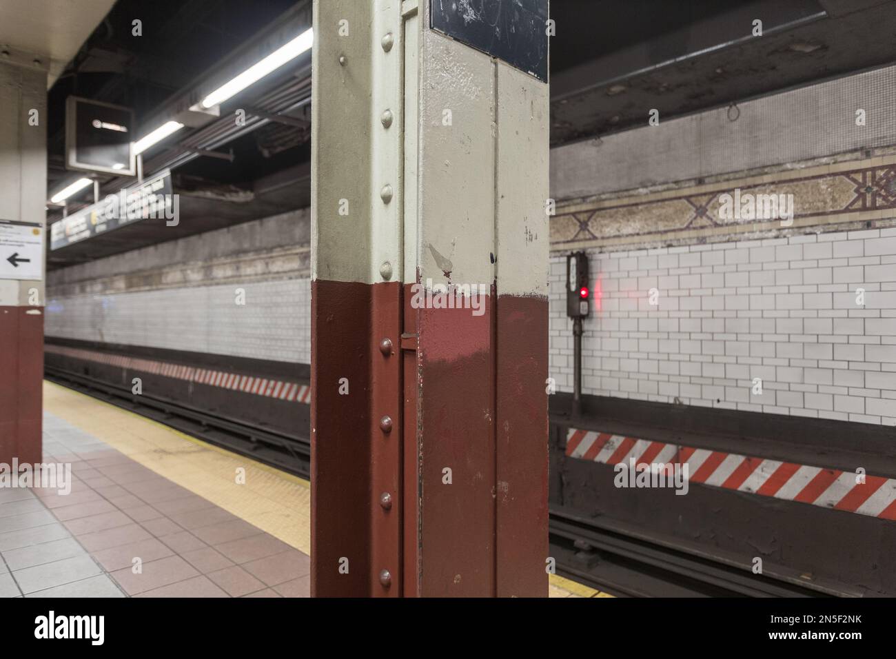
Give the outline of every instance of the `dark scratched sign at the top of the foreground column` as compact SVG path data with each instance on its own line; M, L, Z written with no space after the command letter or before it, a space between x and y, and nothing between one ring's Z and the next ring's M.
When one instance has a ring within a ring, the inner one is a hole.
M433 30L547 82L547 0L430 0Z

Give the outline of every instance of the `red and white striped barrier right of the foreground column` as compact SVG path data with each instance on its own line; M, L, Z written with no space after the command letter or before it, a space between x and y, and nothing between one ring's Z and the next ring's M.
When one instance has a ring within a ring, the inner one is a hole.
M566 455L603 464L687 464L688 481L896 520L896 480L571 428Z

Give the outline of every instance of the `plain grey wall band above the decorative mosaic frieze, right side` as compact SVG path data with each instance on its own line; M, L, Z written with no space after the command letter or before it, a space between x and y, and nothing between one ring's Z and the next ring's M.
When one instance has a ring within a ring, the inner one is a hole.
M732 175L896 143L896 66L818 82L551 151L556 199ZM861 110L861 113L859 113ZM857 115L857 113L859 113ZM858 121L857 121L858 119ZM644 125L647 126L647 109ZM636 231L637 225L625 230Z

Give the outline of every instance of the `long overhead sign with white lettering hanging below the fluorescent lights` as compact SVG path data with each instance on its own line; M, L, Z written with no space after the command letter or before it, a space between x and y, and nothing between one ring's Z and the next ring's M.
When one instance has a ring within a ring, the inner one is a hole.
M92 204L50 226L50 249L60 249L116 230L136 221L173 219L177 199L172 194L171 172L147 178L142 184L125 188L117 195L108 195L99 204Z

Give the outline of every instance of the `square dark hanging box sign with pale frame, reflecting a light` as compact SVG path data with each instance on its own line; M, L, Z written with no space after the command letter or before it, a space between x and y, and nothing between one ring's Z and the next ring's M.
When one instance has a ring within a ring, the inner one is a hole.
M65 167L134 176L134 112L69 96L65 101Z

